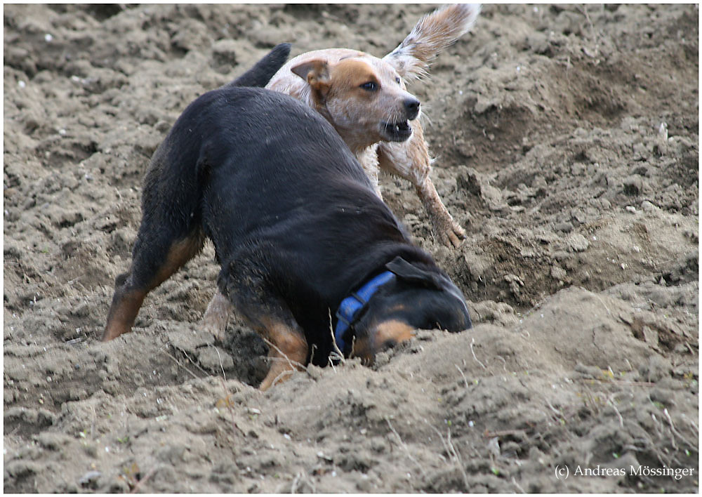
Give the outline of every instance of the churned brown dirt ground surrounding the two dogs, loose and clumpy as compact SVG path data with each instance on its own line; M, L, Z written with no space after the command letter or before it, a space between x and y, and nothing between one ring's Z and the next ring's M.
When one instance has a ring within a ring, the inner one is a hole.
M431 9L4 6L4 491L698 491L694 5L484 6L410 87L468 238L385 199L474 329L262 394L258 336L199 329L208 244L98 341L190 101L282 41L383 55Z

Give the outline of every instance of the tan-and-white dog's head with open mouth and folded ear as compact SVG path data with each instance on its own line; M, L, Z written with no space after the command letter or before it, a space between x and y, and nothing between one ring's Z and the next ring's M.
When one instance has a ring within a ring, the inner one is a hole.
M419 100L388 62L359 52L336 63L309 60L291 70L307 81L317 110L352 149L412 135L409 121L419 116Z

